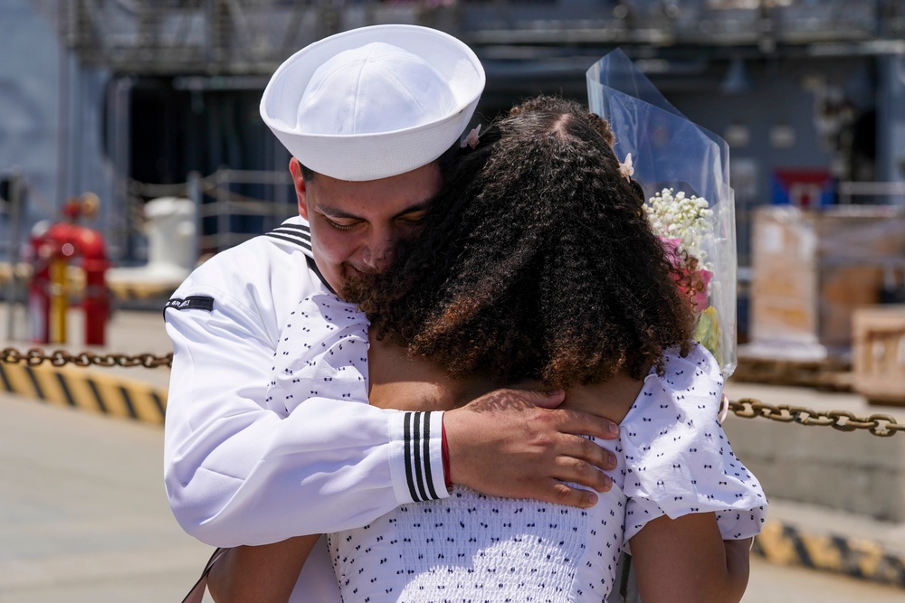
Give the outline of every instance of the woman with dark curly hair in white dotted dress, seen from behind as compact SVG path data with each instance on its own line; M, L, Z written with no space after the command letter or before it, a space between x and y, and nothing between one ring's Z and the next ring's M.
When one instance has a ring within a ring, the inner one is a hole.
M370 350L331 379L413 411L565 390L567 407L620 421L618 440L598 442L617 459L613 487L575 509L481 495L450 466L449 498L329 534L343 600L614 600L629 547L644 603L740 600L767 500L719 426L719 366L691 339L691 271L645 218L608 125L541 97L466 142L417 240L341 292L367 315ZM338 298L310 310L359 333L361 312ZM277 360L274 391L330 362L306 354ZM234 550L214 598L286 600L316 539Z

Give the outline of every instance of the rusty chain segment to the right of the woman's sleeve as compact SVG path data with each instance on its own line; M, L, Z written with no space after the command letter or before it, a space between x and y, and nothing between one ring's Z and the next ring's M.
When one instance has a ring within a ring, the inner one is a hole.
M801 425L832 427L840 431L867 429L880 438L891 438L900 431L905 431L905 423L898 422L890 415L873 414L870 417L857 417L847 410L814 410L805 406L774 405L753 398L730 401L729 410L743 419L760 417L780 423L795 422Z

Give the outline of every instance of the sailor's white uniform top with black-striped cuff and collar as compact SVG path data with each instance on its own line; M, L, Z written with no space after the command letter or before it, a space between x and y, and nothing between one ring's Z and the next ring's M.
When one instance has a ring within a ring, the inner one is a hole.
M167 496L178 523L202 542L337 532L449 495L442 412L414 413L414 421L360 396L321 397L310 379L279 399L268 395L300 300L329 293L310 258L308 224L292 218L205 262L167 304ZM312 333L310 344L343 342ZM367 333L358 345L367 357Z

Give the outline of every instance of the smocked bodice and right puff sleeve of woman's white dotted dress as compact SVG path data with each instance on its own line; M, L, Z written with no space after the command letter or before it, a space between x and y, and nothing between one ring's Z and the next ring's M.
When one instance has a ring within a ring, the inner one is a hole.
M345 603L606 601L624 543L661 516L716 512L724 539L760 531L763 490L717 419L722 380L702 346L669 355L622 423L613 489L592 509L480 495L399 507L329 535Z

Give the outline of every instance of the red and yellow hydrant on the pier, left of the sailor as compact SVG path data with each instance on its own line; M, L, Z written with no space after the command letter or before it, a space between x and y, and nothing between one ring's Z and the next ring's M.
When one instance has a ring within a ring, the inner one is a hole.
M85 313L86 345L103 345L110 318L110 295L106 272L110 266L106 243L98 231L82 226L82 216L97 211L97 197L91 193L70 199L63 206L66 221L33 232L33 277L29 287L32 338L35 343L66 343L66 314L69 309L66 268L81 264L84 290L81 307Z

